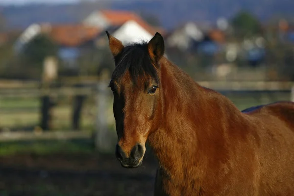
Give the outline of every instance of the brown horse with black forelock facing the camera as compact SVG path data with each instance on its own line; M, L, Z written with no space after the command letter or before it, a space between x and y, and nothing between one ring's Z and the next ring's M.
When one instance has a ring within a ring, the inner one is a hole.
M164 57L163 37L122 42L108 32L110 88L123 167L148 142L160 168L156 196L294 196L294 103L240 112Z

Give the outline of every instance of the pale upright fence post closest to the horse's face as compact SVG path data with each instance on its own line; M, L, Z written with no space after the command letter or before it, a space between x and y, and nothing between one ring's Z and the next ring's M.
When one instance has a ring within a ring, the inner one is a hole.
M107 74L106 74L107 75ZM104 75L97 84L97 119L95 146L99 152L109 152L112 149L112 137L107 124L108 80Z

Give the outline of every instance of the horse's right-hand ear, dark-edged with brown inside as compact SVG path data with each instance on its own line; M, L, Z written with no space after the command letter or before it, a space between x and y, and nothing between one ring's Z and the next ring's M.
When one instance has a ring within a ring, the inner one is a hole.
M164 55L164 40L160 33L156 32L149 41L148 52L152 61L158 61Z

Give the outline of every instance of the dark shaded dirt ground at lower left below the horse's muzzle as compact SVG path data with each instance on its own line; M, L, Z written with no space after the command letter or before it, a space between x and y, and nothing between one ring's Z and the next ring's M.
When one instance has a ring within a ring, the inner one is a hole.
M113 155L0 157L0 196L152 196L157 162L124 169Z

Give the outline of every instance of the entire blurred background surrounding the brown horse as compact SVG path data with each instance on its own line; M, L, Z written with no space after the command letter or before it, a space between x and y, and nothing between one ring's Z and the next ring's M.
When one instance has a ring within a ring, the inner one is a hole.
M242 110L294 100L293 0L0 0L0 196L151 196L123 169L105 30L167 57Z

